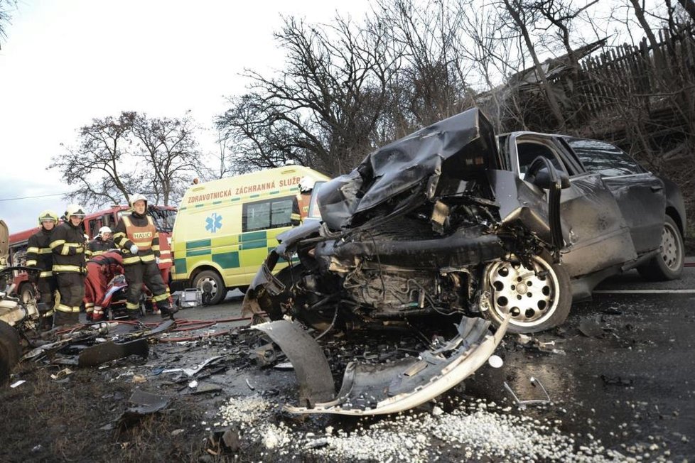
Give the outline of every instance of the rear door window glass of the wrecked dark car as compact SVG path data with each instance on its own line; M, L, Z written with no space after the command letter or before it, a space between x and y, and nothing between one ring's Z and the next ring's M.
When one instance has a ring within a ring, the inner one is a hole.
M605 177L646 172L630 155L610 143L586 138L566 138L565 141L589 172Z

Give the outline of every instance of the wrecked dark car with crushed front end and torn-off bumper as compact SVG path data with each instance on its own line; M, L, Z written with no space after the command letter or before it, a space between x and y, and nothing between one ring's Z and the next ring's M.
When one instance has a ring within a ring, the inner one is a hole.
M608 143L495 136L478 109L374 151L314 194L321 220L279 236L244 310L315 337L400 325L438 342L388 365L350 364L336 394L313 339L287 320L259 325L293 361L297 413L424 403L485 363L506 331L560 325L600 280L630 268L674 279L684 263L684 203L669 180Z

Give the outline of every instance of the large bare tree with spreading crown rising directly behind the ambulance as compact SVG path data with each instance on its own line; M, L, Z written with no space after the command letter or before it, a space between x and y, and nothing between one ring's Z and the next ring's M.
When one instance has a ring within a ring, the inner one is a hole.
M229 99L217 120L239 153L239 170L291 161L332 175L373 148L371 137L397 71L384 31L337 17L328 26L286 18L276 40L287 52L277 77L249 72L251 92Z

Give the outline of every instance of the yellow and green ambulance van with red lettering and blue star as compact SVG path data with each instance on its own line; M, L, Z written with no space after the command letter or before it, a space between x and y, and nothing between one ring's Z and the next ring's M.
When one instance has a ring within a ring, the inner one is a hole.
M171 236L173 283L200 289L209 304L224 300L227 290L245 291L278 245L276 236L306 215L300 182L325 180L316 170L289 165L190 186Z

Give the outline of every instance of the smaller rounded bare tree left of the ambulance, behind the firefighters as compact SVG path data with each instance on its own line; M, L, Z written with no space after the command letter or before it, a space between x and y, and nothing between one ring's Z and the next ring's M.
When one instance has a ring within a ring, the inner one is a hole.
M192 126L188 118L148 119L133 111L93 119L79 130L77 146L65 146L48 169L73 187L66 198L85 206L122 204L134 192L167 205L183 194L184 173L198 156Z

